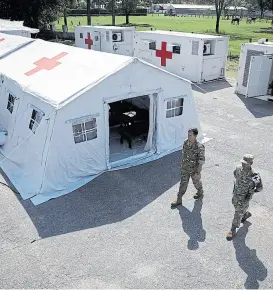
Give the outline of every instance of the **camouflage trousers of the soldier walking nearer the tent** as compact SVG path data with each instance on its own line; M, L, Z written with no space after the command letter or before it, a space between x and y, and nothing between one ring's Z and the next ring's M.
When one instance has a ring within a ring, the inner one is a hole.
M177 194L177 200L181 200L182 196L186 193L189 180L192 179L192 183L194 187L197 189L197 192L202 194L203 193L203 184L201 181L201 172L200 173L193 173L193 172L182 172L181 174L181 181L180 187Z

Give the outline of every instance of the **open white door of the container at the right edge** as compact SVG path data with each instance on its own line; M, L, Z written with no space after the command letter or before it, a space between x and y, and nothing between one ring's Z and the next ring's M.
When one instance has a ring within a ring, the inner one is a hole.
M271 69L272 55L257 55L251 57L246 97L253 98L268 94Z

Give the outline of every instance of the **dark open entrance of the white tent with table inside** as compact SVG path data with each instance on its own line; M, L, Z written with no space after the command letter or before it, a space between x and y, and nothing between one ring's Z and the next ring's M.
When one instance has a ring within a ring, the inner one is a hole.
M110 163L148 152L150 97L138 96L109 103Z

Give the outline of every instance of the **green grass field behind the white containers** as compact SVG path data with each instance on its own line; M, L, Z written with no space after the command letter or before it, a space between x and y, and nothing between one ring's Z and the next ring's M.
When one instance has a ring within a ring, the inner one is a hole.
M116 17L116 25L122 25L125 22L124 16ZM132 26L136 26L137 30L175 30L185 32L198 32L206 34L215 33L215 17L206 16L199 17L165 17L163 15L148 15L148 16L131 16L130 22ZM73 24L72 24L73 23ZM86 25L86 17L68 17L69 31L74 31L76 25ZM61 30L63 19L57 23L57 30ZM110 16L92 17L92 24L110 25ZM260 38L272 38L273 30L270 21L257 21L255 24L246 24L243 19L240 25L232 25L230 20L221 20L220 32L223 35L230 36L229 55L239 56L240 47L243 42L257 41ZM234 75L237 70L238 60L230 60L228 64L228 73Z

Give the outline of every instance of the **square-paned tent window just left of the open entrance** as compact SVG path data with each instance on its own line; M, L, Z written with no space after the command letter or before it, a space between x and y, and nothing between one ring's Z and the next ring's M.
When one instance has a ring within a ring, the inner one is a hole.
M81 143L97 138L96 118L88 121L77 122L72 125L74 142Z

